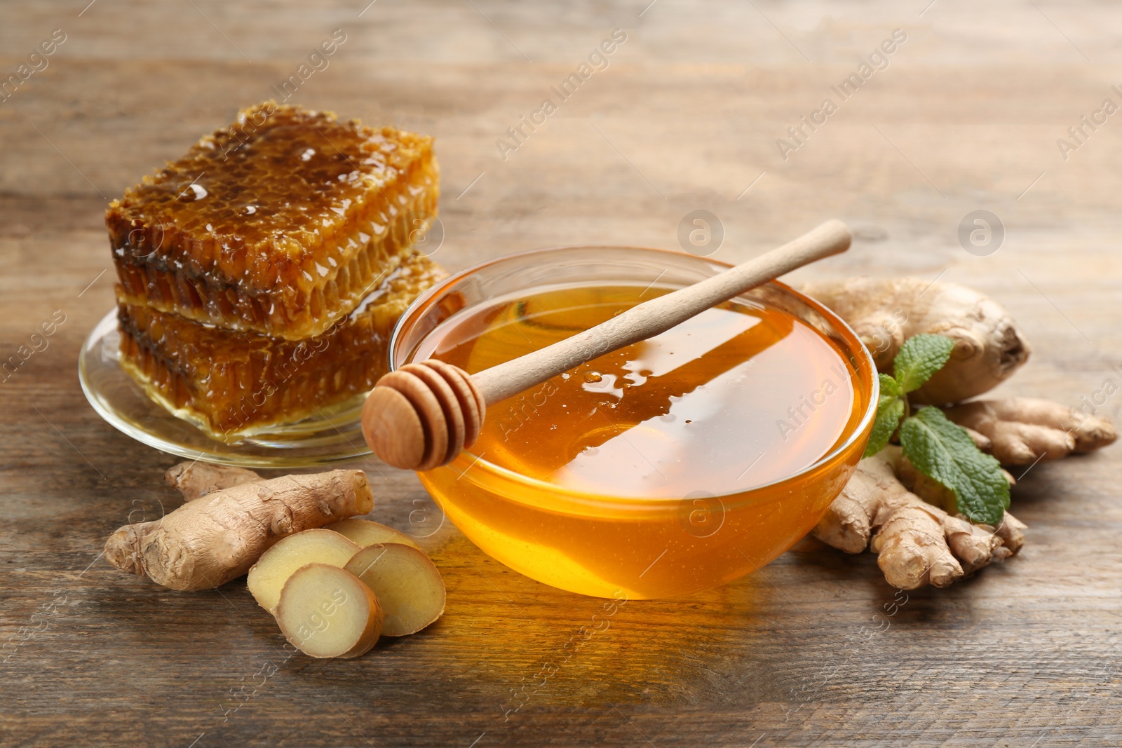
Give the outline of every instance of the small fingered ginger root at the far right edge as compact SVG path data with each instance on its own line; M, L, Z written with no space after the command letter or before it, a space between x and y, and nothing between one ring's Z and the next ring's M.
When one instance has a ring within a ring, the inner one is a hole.
M1118 438L1106 418L1033 397L972 400L944 408L983 452L1006 465L1029 465L1106 446Z

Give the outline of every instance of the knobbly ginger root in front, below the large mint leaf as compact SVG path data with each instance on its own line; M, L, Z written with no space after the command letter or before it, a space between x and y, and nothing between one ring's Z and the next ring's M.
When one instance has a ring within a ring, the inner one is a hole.
M846 553L876 553L885 580L902 590L947 587L1024 544L1024 525L1009 512L1001 527L991 528L935 506L945 500L941 486L916 470L900 447L886 446L858 463L812 533Z

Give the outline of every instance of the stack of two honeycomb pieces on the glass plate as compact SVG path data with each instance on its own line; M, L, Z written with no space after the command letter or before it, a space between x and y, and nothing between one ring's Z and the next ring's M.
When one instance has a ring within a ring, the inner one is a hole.
M359 395L444 273L432 138L272 102L202 138L105 214L123 368L232 441Z

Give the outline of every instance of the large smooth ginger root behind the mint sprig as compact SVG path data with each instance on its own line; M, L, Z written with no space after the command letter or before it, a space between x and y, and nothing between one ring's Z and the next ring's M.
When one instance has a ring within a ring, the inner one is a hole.
M885 373L891 373L900 347L912 335L951 338L950 361L911 394L916 403L946 405L981 395L1008 379L1031 351L1004 308L957 284L849 278L809 283L801 290L845 320Z

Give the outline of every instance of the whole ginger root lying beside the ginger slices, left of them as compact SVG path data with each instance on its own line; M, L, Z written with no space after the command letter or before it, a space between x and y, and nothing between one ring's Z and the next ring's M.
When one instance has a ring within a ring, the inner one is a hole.
M173 590L209 590L248 572L280 538L373 507L361 470L241 483L119 528L105 542L105 558Z

